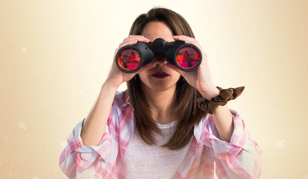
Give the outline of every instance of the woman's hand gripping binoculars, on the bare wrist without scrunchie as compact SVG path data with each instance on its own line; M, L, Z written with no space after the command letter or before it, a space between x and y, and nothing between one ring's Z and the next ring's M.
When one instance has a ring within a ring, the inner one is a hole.
M123 40L123 42L119 45L117 50L115 50L114 56L113 56L113 62L109 69L109 73L106 79L106 82L108 82L109 85L118 88L120 84L123 82L129 81L131 78L133 78L135 75L139 74L140 72L143 72L145 70L151 69L155 67L155 63L151 61L150 63L142 66L137 72L135 73L124 73L122 72L117 64L115 63L115 55L117 55L119 49L121 49L124 46L129 46L132 44L136 44L138 41L148 43L150 42L149 39L145 38L141 35L129 35L127 38Z

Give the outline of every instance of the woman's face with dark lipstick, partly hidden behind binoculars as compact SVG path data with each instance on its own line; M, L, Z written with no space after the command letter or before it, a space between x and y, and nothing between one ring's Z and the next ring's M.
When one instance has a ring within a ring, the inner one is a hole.
M163 38L167 42L175 41L171 30L164 23L160 22L147 24L141 35L148 38L150 42L153 42L157 38ZM167 68L167 60L163 54L157 54L153 60L157 61L154 68L139 73L142 83L153 91L166 91L171 87L175 87L180 78L180 74ZM163 73L166 73L167 76L160 75Z

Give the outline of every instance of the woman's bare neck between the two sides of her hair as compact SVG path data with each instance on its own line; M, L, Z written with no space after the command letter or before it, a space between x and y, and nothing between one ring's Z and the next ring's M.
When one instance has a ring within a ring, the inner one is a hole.
M155 114L154 119L157 123L168 124L174 121L174 119L172 120L168 114L170 114L170 111L174 106L172 99L176 91L176 85L166 91L153 91L146 85L143 85L142 90L149 105L153 109L153 113Z

